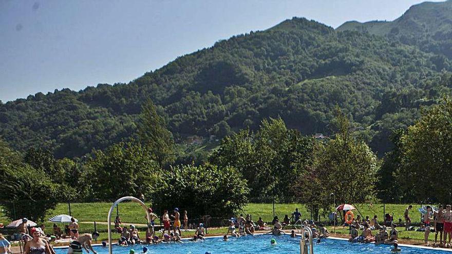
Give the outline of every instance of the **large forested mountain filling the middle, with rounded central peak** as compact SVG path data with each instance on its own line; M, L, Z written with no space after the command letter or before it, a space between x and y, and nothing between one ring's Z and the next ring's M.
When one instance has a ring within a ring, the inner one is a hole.
M416 46L292 18L219 41L128 84L36 93L0 104L0 136L13 148L80 157L135 135L148 98L177 141L256 129L281 116L304 134L331 133L336 106L382 155L393 129L450 93L450 61Z

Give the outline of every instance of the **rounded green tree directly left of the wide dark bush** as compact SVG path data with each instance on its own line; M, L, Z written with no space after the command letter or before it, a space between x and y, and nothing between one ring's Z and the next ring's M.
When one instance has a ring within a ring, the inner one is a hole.
M105 151L96 150L85 167L94 199L112 201L123 196L150 196L159 183L159 167L149 151L132 142L120 142Z

